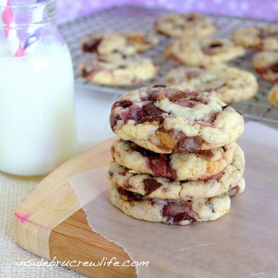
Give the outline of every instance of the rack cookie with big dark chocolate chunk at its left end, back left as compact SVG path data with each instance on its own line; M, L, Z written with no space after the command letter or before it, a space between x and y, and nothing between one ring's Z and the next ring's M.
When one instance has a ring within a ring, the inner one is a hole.
M81 38L80 48L84 52L106 55L119 52L133 55L147 51L158 43L155 35L142 32L96 32Z

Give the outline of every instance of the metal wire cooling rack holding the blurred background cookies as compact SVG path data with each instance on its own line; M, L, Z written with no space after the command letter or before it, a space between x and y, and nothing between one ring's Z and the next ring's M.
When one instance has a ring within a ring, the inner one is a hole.
M92 82L88 82L85 78L78 76L77 66L81 61L89 60L95 57L95 54L82 53L79 47L80 38L84 35L94 31L118 31L118 30L133 30L133 31L145 31L153 32L152 26L154 20L165 14L167 11L158 9L146 9L132 6L119 6L106 10L102 10L95 14L78 18L74 21L60 25L59 30L68 44L71 52L75 84L78 87L90 89L92 91L99 91L107 94L122 95L125 92L137 88L138 86L152 86L154 84L164 84L164 78L166 73L177 64L164 59L163 51L171 41L171 38L158 35L159 44L155 47L143 53L142 56L152 58L159 66L159 75L151 82L146 82L136 86L125 87L109 87L101 86ZM243 18L234 18L226 16L210 15L219 28L215 37L229 38L234 29L242 26L263 26L266 25L265 21L257 21ZM233 104L235 109L243 113L245 118L260 120L278 125L278 109L269 106L267 101L267 94L271 87L271 82L261 79L253 69L253 51L247 51L245 57L235 59L228 63L231 66L237 66L241 69L249 70L253 72L259 82L258 95L250 101L239 102ZM93 93L93 92L92 92Z

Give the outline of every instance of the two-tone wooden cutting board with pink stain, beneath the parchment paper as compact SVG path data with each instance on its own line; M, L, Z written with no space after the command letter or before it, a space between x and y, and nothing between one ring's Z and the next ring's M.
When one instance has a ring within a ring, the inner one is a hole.
M116 257L130 260L123 248L94 233L87 224L86 214L71 189L68 179L76 173L108 165L114 138L69 160L45 177L24 198L15 211L17 243L25 250L50 261L102 261ZM135 277L133 266L75 266L69 269L89 277Z

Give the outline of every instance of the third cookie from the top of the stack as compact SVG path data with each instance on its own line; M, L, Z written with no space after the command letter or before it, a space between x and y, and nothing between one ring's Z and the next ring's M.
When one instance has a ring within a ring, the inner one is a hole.
M244 152L237 145L233 161L220 173L207 180L174 181L146 173L134 173L112 161L108 178L117 187L150 198L194 200L223 194L237 186L245 167Z

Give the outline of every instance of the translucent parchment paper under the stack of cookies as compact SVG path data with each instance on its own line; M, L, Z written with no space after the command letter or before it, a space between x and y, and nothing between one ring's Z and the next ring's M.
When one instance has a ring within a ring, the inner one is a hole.
M178 226L126 216L108 199L106 167L77 175L70 183L94 231L123 246L133 260L149 261L138 267L139 277L274 276L278 131L249 122L238 143L245 151L246 189L215 221Z

